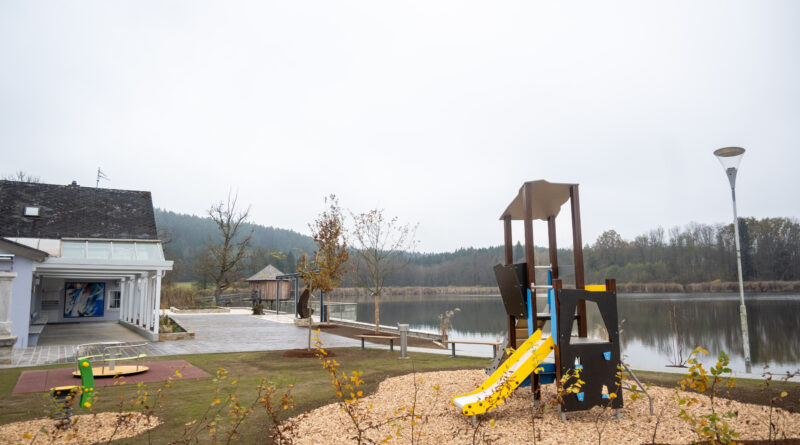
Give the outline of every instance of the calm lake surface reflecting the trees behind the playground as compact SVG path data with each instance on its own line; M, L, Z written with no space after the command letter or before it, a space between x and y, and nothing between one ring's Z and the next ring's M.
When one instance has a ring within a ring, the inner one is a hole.
M537 305L544 308L544 299ZM761 373L764 365L773 372L800 368L800 295L746 295L745 305L753 373ZM494 341L505 335L507 316L499 295L385 297L381 324L408 323L411 329L438 332L439 314L454 308L461 311L452 318L450 338ZM716 357L720 350L727 352L733 369L744 371L738 294L621 294L617 308L622 354L634 367L673 365L681 354L685 360L692 349L703 346L708 357ZM374 313L374 303L357 304L358 321L374 323ZM588 319L590 336L603 329L599 314L591 308ZM487 356L491 352L489 346L458 348Z

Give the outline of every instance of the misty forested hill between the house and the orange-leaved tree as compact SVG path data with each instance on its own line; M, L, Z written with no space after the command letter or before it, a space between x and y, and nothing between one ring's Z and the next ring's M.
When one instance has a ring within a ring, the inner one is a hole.
M206 242L219 237L216 224L208 217L185 215L156 209L156 226L165 241L164 254L175 261L172 281L199 281L196 261L206 249ZM246 224L243 232L253 230L251 252L244 265L245 274L253 274L267 264L285 273L293 272L300 252L314 249L311 237L292 230ZM273 255L281 252L282 255Z

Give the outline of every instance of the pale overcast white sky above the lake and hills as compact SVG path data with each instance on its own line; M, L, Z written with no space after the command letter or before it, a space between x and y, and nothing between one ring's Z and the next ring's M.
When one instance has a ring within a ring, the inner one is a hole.
M102 167L197 215L238 190L301 233L335 193L433 252L501 244L533 179L580 183L587 243L728 222L712 152L738 145L740 215L797 217L798 23L797 1L3 0L0 174Z

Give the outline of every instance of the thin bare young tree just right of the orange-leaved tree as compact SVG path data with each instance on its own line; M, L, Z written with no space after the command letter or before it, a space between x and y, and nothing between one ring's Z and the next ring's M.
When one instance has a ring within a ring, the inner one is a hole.
M386 280L405 267L417 245L418 224L400 224L383 209L350 212L354 221L351 239L355 257L355 281L375 297L375 332L380 330L379 299Z

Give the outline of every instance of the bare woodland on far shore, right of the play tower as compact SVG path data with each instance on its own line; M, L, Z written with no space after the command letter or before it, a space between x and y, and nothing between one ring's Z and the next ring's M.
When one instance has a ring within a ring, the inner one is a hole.
M800 223L793 218L740 218L745 281L800 280ZM587 280L699 283L736 281L733 224L658 228L623 240L604 232L584 253Z

